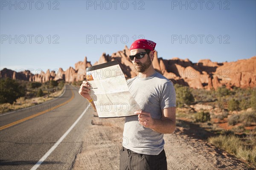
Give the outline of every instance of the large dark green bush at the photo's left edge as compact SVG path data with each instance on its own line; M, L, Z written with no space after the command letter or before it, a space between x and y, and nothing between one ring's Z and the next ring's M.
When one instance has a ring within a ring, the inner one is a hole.
M26 88L13 79L0 79L0 103L13 103L25 96Z

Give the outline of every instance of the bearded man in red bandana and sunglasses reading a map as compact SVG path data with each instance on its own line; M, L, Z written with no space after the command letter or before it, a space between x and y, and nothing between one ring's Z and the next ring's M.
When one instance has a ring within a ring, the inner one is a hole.
M176 95L172 82L154 70L155 46L140 39L130 48L130 59L140 74L127 80L127 85L141 110L125 118L121 170L167 170L163 134L175 130ZM88 87L84 81L79 94L92 103Z

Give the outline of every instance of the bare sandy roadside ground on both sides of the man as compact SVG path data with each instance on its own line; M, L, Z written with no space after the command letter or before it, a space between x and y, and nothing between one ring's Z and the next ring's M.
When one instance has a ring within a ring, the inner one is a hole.
M88 134L81 152L77 154L74 170L118 170L119 150L122 146L124 118L99 119L93 113ZM172 134L165 134L165 152L169 170L252 170L247 162L236 159L196 137L195 126L176 126ZM252 165L250 165L252 166Z

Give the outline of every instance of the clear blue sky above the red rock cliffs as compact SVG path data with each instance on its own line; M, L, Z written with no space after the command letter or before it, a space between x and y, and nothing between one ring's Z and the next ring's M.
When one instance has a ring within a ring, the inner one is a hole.
M231 62L256 55L255 0L0 3L1 69L65 71L141 37L156 42L164 59Z

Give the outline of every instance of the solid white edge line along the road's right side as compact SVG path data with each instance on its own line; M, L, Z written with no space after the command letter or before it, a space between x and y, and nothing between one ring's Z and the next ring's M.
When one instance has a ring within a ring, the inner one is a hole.
M82 118L84 113L87 111L89 105L87 108L83 111L83 113L79 116L78 119L76 119L76 122L73 123L73 125L64 133L64 135L61 136L61 138L51 147L51 149L48 150L47 153L44 154L44 156L30 169L30 170L36 170L47 157L55 150L55 148L63 141L63 139L70 133L70 131L73 129L73 127L76 126L76 124L79 122L79 120Z

